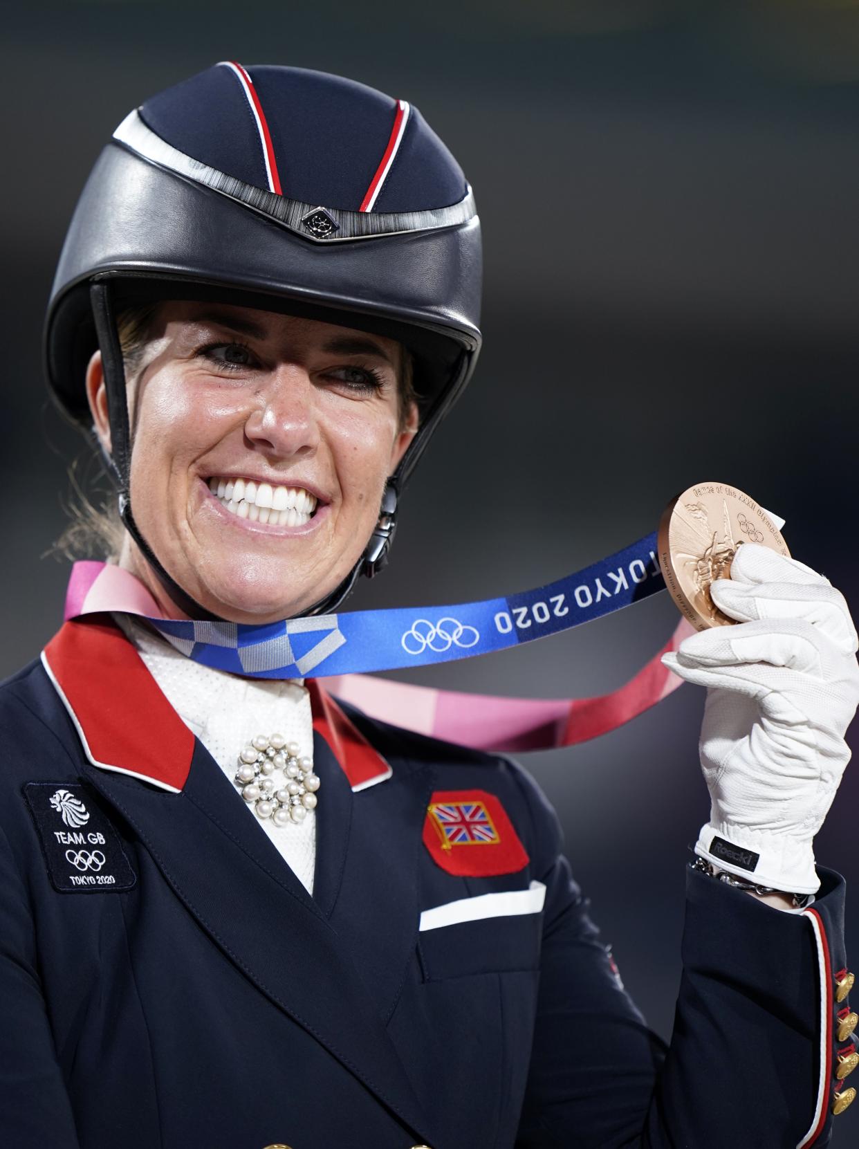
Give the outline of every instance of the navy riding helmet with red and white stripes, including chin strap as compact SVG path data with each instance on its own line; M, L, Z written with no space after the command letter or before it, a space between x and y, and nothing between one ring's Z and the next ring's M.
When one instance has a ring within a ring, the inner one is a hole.
M147 100L99 156L48 306L48 381L88 426L85 370L101 348L123 522L175 601L206 617L134 523L117 311L224 299L402 342L420 429L362 562L317 608L331 609L384 565L397 494L471 376L480 280L471 188L416 108L324 72L223 62Z

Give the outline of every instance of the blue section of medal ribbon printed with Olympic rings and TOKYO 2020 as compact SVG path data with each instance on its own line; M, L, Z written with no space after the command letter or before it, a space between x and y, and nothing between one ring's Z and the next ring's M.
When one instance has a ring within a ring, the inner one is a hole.
M504 650L581 626L664 588L653 532L557 583L504 599L262 625L148 620L206 666L246 678L316 678L428 666Z

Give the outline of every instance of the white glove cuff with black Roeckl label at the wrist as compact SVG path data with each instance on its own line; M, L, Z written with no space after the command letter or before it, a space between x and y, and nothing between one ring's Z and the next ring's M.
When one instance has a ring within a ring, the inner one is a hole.
M720 870L758 886L788 894L817 894L820 888L811 842L787 834L763 834L707 823L701 828L695 853Z

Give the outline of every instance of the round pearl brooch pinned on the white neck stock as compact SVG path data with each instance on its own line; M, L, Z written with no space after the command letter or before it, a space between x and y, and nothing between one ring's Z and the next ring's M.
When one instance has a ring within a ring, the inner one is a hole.
M270 818L276 826L301 823L316 809L319 778L314 762L283 734L251 739L239 755L234 781L257 818Z

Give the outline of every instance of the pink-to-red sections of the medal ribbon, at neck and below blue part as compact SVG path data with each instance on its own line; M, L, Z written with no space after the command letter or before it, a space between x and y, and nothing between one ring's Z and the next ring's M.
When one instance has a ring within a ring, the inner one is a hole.
M121 611L161 618L146 587L129 571L101 562L75 563L65 594L64 617ZM624 686L593 699L519 699L439 691L395 683L372 674L319 678L328 693L358 707L372 718L457 742L475 750L520 753L574 746L599 738L661 702L682 685L661 664L692 627L681 619L671 639Z

